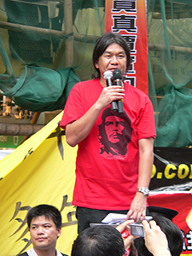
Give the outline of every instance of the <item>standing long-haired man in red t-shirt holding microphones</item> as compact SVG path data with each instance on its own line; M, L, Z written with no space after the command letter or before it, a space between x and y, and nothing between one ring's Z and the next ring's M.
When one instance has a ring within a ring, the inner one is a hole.
M106 71L125 74L130 64L125 39L105 33L93 51L96 79L75 84L67 99L60 125L67 143L79 145L73 191L79 233L109 212L137 221L146 215L156 135L153 106L131 84L108 86L104 78ZM106 113L115 101L123 101L124 113Z

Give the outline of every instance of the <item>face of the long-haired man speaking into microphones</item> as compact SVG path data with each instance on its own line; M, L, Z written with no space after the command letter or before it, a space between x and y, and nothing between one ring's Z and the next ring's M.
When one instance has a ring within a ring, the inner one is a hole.
M124 74L126 71L126 61L125 50L119 44L110 44L100 56L95 66L100 70L101 79L104 79L103 73L107 70L113 72L114 69L119 68Z

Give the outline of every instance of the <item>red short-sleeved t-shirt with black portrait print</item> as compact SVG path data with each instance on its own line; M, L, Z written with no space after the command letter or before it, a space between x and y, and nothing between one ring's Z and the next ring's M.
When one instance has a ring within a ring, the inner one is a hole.
M86 113L102 93L99 79L73 86L60 126ZM90 134L79 143L73 205L127 210L137 191L138 140L155 137L154 110L143 91L125 83L124 112L102 110Z

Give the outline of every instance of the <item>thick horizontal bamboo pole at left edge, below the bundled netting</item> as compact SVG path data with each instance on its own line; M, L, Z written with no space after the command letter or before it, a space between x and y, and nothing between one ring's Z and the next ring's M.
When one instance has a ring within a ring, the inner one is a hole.
M0 135L31 136L44 125L0 123Z

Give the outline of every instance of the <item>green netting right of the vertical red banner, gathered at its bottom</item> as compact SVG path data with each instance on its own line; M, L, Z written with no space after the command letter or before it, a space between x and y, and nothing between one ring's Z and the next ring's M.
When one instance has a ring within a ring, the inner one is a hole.
M192 1L148 0L148 89L157 147L192 144Z

